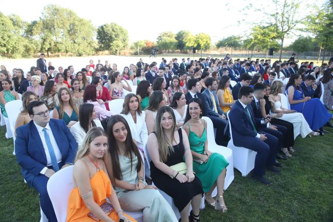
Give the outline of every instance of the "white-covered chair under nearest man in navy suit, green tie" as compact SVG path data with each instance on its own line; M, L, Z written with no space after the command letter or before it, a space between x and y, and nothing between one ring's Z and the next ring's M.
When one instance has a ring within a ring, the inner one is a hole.
M232 156L233 156L233 166L239 172L243 177L246 177L246 175L251 172L255 168L255 160L257 152L253 150L249 150L245 147L241 146L235 146L233 144L232 140L232 123L230 122L229 118L229 112L227 113L228 121L229 121L229 130L230 130L230 140L228 142L228 147L232 150ZM237 127L237 126L235 126Z

